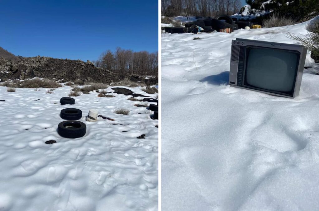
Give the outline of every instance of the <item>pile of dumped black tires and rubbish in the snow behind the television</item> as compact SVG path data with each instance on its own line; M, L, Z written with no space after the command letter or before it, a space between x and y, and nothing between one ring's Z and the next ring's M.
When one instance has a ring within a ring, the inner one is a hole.
M185 27L162 27L166 33L198 33L198 32L219 32L220 29L230 28L233 32L240 28L250 27L249 21L234 21L229 15L217 15L215 18L198 18L197 21L185 24Z

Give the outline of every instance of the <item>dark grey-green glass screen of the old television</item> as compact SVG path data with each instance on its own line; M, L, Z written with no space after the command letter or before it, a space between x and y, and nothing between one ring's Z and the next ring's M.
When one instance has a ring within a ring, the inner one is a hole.
M299 52L276 48L247 47L244 85L264 91L292 94Z

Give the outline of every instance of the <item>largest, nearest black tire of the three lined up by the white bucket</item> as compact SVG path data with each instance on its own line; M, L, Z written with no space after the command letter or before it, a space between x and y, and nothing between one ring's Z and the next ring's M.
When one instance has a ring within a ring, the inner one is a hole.
M58 134L64 138L79 138L85 135L86 125L76 120L67 120L58 125Z

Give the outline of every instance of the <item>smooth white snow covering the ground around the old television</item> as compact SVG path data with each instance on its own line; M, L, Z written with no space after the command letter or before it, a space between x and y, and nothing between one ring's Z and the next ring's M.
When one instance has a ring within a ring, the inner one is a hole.
M294 99L227 85L232 39L295 43L305 26L162 34L163 210L319 210L310 55Z

